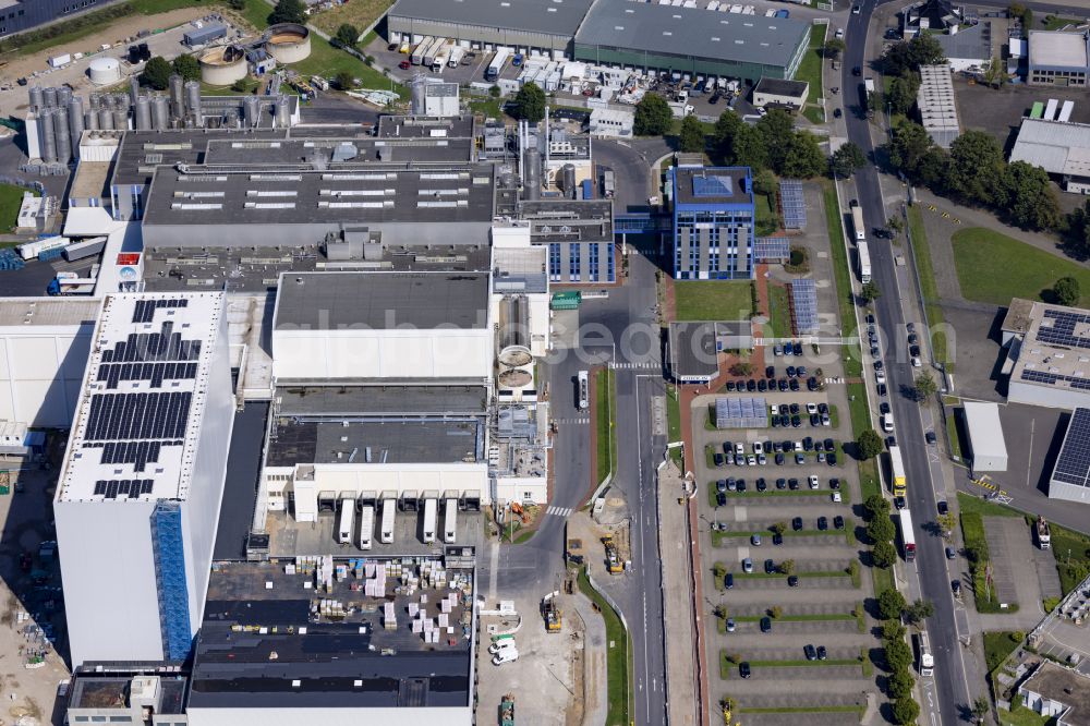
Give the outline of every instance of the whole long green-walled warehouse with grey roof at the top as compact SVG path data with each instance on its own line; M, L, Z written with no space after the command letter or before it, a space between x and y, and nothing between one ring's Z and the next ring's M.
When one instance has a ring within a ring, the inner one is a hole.
M688 3L687 3L688 4ZM703 3L702 3L703 4ZM810 25L678 4L595 0L576 34L576 60L743 78L792 78Z

